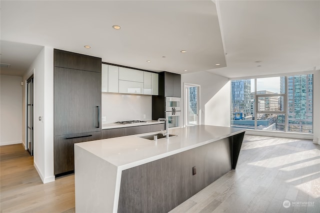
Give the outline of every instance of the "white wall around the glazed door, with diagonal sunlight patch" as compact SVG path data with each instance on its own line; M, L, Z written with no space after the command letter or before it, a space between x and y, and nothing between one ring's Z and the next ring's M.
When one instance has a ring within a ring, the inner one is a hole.
M230 84L229 79L210 72L194 72L181 75L181 94L183 84L200 85L200 124L215 126L230 126ZM181 97L184 108L184 97ZM184 125L184 116L181 124Z

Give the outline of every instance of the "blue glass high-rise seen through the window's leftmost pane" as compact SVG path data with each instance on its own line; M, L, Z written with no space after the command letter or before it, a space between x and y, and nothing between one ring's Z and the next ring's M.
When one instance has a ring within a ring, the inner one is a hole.
M231 118L242 113L242 119L251 119L250 93L250 79L231 81Z

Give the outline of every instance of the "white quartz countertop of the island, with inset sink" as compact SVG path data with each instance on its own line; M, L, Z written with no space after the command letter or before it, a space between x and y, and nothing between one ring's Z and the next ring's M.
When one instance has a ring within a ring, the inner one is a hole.
M198 125L169 130L170 134L176 136L157 139L156 142L139 136L158 132L88 141L74 144L74 146L92 153L120 170L125 170L244 131L244 129L232 127Z

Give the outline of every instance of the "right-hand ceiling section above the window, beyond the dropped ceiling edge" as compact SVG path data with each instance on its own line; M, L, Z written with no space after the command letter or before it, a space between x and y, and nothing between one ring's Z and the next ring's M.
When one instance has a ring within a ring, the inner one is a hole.
M227 67L213 73L236 78L320 69L319 0L222 0L218 6Z

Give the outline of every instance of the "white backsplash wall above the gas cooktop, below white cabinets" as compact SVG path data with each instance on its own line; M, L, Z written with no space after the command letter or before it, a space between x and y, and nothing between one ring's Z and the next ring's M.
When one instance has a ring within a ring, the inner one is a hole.
M101 94L103 123L129 120L151 120L151 95ZM143 117L145 115L145 118Z

